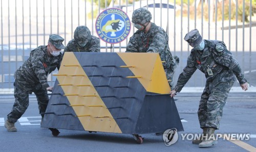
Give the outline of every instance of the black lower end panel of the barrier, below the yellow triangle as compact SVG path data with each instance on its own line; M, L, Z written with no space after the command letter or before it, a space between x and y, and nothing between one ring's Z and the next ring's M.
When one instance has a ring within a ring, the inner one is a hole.
M147 94L152 96L145 96L134 134L163 133L171 128L184 131L174 99L169 95Z

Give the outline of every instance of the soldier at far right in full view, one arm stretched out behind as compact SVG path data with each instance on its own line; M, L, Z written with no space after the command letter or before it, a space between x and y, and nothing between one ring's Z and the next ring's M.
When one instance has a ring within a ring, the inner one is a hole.
M237 77L241 88L248 89L247 80L236 58L229 52L223 41L203 40L198 30L187 33L184 40L193 47L187 59L187 65L180 74L178 82L170 96L180 92L193 73L199 69L205 74L206 84L201 96L198 118L203 134L200 139L193 140L199 147L217 144L214 132L219 129L222 111L228 93Z

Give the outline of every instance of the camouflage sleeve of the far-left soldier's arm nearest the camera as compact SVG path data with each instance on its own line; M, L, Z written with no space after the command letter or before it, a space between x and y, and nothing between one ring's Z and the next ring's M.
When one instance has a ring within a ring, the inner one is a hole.
M47 74L45 71L45 67L43 66L44 55L39 53L41 50L33 51L31 53L31 63L34 70L35 75L37 76L39 82L42 85L43 89L49 87L47 82Z

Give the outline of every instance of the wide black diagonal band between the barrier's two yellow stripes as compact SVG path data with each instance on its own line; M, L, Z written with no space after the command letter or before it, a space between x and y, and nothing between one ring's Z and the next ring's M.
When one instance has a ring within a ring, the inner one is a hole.
M122 133L134 132L144 100L143 95L146 93L139 80L125 78L134 74L129 68L120 68L126 64L117 53L74 52L74 54L106 107L111 108L109 111Z

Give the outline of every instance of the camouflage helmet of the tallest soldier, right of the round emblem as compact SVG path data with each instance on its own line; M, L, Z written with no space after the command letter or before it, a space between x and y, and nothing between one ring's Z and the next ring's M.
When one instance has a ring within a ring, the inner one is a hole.
M134 10L132 16L132 23L134 24L145 24L152 19L150 11L146 8L138 8Z

